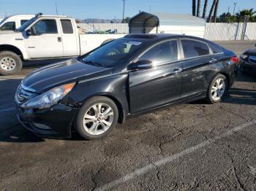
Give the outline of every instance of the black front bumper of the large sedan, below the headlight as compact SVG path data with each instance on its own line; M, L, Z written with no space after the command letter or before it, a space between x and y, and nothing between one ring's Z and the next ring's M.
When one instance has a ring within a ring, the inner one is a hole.
M40 137L70 138L77 108L56 104L48 109L22 109L17 105L17 116L26 129Z

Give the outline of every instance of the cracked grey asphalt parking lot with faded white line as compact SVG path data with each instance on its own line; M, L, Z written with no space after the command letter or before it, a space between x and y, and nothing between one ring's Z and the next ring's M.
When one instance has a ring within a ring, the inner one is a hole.
M27 65L0 77L1 191L256 190L256 74L239 73L222 103L170 106L84 141L39 139L19 125L13 97L36 66Z

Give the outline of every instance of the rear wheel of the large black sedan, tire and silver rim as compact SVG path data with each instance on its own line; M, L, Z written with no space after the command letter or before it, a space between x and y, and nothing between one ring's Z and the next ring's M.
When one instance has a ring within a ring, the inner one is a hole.
M220 82L219 85L218 82ZM217 74L214 79L211 80L211 85L208 88L206 101L209 104L215 104L222 101L227 95L227 89L227 78L222 74Z

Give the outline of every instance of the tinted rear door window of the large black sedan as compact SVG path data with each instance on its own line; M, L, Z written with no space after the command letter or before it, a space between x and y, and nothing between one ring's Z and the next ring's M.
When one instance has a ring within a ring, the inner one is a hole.
M184 57L192 58L200 55L208 55L210 53L208 46L203 42L195 40L181 40Z

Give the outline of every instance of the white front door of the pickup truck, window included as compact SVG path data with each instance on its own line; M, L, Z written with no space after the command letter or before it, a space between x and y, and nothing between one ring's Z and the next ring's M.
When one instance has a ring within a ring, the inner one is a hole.
M60 29L56 19L41 19L31 26L25 43L30 58L60 57L63 55Z

